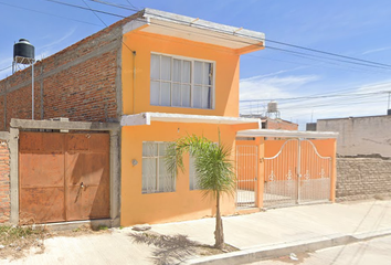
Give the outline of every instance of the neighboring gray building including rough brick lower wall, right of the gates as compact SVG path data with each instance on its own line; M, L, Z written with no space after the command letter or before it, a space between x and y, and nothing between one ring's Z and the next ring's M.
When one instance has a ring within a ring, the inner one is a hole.
M338 131L338 200L389 197L391 115L318 119L318 131Z

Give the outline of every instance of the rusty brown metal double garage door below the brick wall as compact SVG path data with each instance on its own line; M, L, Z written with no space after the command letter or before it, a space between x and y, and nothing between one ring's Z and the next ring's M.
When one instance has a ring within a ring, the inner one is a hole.
M20 221L109 218L109 135L20 132Z

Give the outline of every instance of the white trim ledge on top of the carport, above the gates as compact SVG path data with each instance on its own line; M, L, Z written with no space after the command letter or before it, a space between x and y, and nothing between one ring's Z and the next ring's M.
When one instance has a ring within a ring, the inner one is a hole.
M240 130L236 137L284 137L284 138L337 138L335 131L303 131L303 130L272 130L272 129L249 129Z

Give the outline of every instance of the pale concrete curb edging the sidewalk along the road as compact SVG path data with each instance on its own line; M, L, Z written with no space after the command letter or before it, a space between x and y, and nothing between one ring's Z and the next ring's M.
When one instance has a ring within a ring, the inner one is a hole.
M199 257L187 261L184 264L191 265L236 265L271 259L286 256L290 253L315 252L331 246L346 245L360 241L368 241L376 237L391 235L391 230L383 230L355 235L323 236L316 240L296 241L272 246L251 247L237 252L220 254L214 256Z

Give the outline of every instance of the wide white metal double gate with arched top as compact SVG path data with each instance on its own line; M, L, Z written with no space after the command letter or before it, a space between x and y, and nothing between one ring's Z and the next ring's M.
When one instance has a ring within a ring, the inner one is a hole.
M310 140L287 140L264 161L265 208L330 200L331 158L321 157Z

